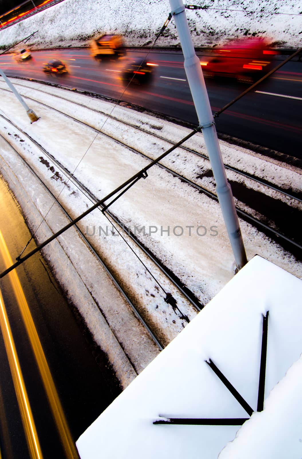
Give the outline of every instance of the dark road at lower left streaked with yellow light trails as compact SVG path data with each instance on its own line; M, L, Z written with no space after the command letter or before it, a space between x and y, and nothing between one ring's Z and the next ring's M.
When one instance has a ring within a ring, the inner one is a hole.
M20 253L29 239L29 231L11 197L0 180L0 230L11 257ZM31 244L34 244L32 241ZM33 248L33 247L32 247ZM2 238L0 271L5 269ZM51 378L66 418L73 442L121 392L104 353L92 342L74 308L64 299L47 264L39 253L16 269L34 326L41 341ZM16 344L29 404L33 412L43 457L64 458L46 385L51 378L41 377L35 354L34 336L16 296L16 280L6 275L0 280L5 308ZM1 328L3 320L0 318ZM11 377L7 353L0 331L0 454L4 458L27 459L27 443ZM30 338L30 339L29 339ZM44 375L45 376L45 375Z

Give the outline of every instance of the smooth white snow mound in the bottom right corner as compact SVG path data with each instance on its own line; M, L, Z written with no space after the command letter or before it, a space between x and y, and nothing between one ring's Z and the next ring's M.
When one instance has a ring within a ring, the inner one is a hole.
M302 357L287 371L218 459L300 459L302 457Z

